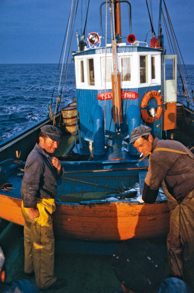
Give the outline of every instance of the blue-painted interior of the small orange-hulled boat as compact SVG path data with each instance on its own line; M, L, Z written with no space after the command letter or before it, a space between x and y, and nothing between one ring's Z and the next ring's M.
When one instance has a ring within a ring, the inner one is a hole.
M11 164L12 163L12 164ZM9 197L21 199L20 188L23 176L25 162L20 165L14 164L14 160L6 160L0 163L5 168L6 182L12 184L11 187L2 187L0 193ZM96 162L95 166L100 169L92 169L93 162L87 162L89 170L78 170L85 167L86 162L61 162L65 170L76 169L76 171L66 171L58 180L57 202L58 203L82 203L86 201L117 201L121 200L120 191L126 191L125 200L130 202L141 202L141 188L143 188L146 169L138 170L138 167L127 163L121 163L121 168L117 167L117 163L103 165L103 162ZM122 165L123 164L123 165ZM115 165L115 166L114 166ZM147 162L139 164L139 167L147 165ZM82 166L82 167L81 167ZM103 169L103 167L105 169ZM112 167L110 169L110 167ZM114 167L114 168L113 168ZM126 167L126 168L125 168ZM132 168L132 169L131 169ZM122 188L122 190L121 190ZM124 199L123 197L123 199ZM156 201L165 201L165 195L160 189Z

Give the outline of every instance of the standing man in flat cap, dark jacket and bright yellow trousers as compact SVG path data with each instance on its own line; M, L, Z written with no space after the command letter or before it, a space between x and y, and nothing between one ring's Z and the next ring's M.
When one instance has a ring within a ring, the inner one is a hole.
M52 213L56 210L57 179L64 169L53 153L61 131L51 125L40 128L39 143L27 157L21 184L24 225L24 272L35 273L40 289L57 290L64 279L54 275L55 238Z

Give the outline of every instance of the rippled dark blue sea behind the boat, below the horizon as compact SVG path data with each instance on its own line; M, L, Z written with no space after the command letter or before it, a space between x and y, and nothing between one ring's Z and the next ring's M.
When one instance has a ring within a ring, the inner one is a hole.
M191 88L194 88L194 65L186 65L186 78L187 75L190 80L188 90L191 95ZM168 71L166 76L168 77ZM55 99L58 94L56 81L59 81L59 78L58 64L0 64L0 141L46 118L52 95L55 112ZM180 81L180 78L178 80ZM63 82L65 106L76 97L72 63L69 64L67 79L64 81L63 77L61 79L61 84ZM179 95L177 99L181 102Z

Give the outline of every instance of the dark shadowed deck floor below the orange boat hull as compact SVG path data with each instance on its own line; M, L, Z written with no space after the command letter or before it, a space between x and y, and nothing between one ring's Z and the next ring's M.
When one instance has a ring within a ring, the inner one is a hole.
M6 231L0 230L0 232L3 234L0 237L0 246L5 254L7 281L25 277L23 271L23 228L11 224L9 229L6 229ZM14 241L12 241L13 239ZM166 256L165 237L150 239L150 241ZM77 251L74 250L76 247ZM114 250L110 249L109 255L104 255L105 249L101 247L100 255L96 254L96 251L99 251L99 246L92 246L92 250L89 250L87 246L83 253L78 253L78 247L82 248L79 251L83 251L84 244L72 241L71 243L63 243L62 246L58 238L55 240L55 274L59 278L65 278L68 281L65 293L120 292L120 282L117 280L112 269L112 254ZM56 290L49 292L56 293ZM58 289L57 292L64 293L64 288Z

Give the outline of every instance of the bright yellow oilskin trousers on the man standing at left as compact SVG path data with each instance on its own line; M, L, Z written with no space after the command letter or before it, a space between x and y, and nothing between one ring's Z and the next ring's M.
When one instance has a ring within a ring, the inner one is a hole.
M55 238L52 213L56 210L54 199L37 199L39 217L30 219L27 208L21 204L24 224L24 272L35 272L36 284L40 289L51 286L54 276Z

